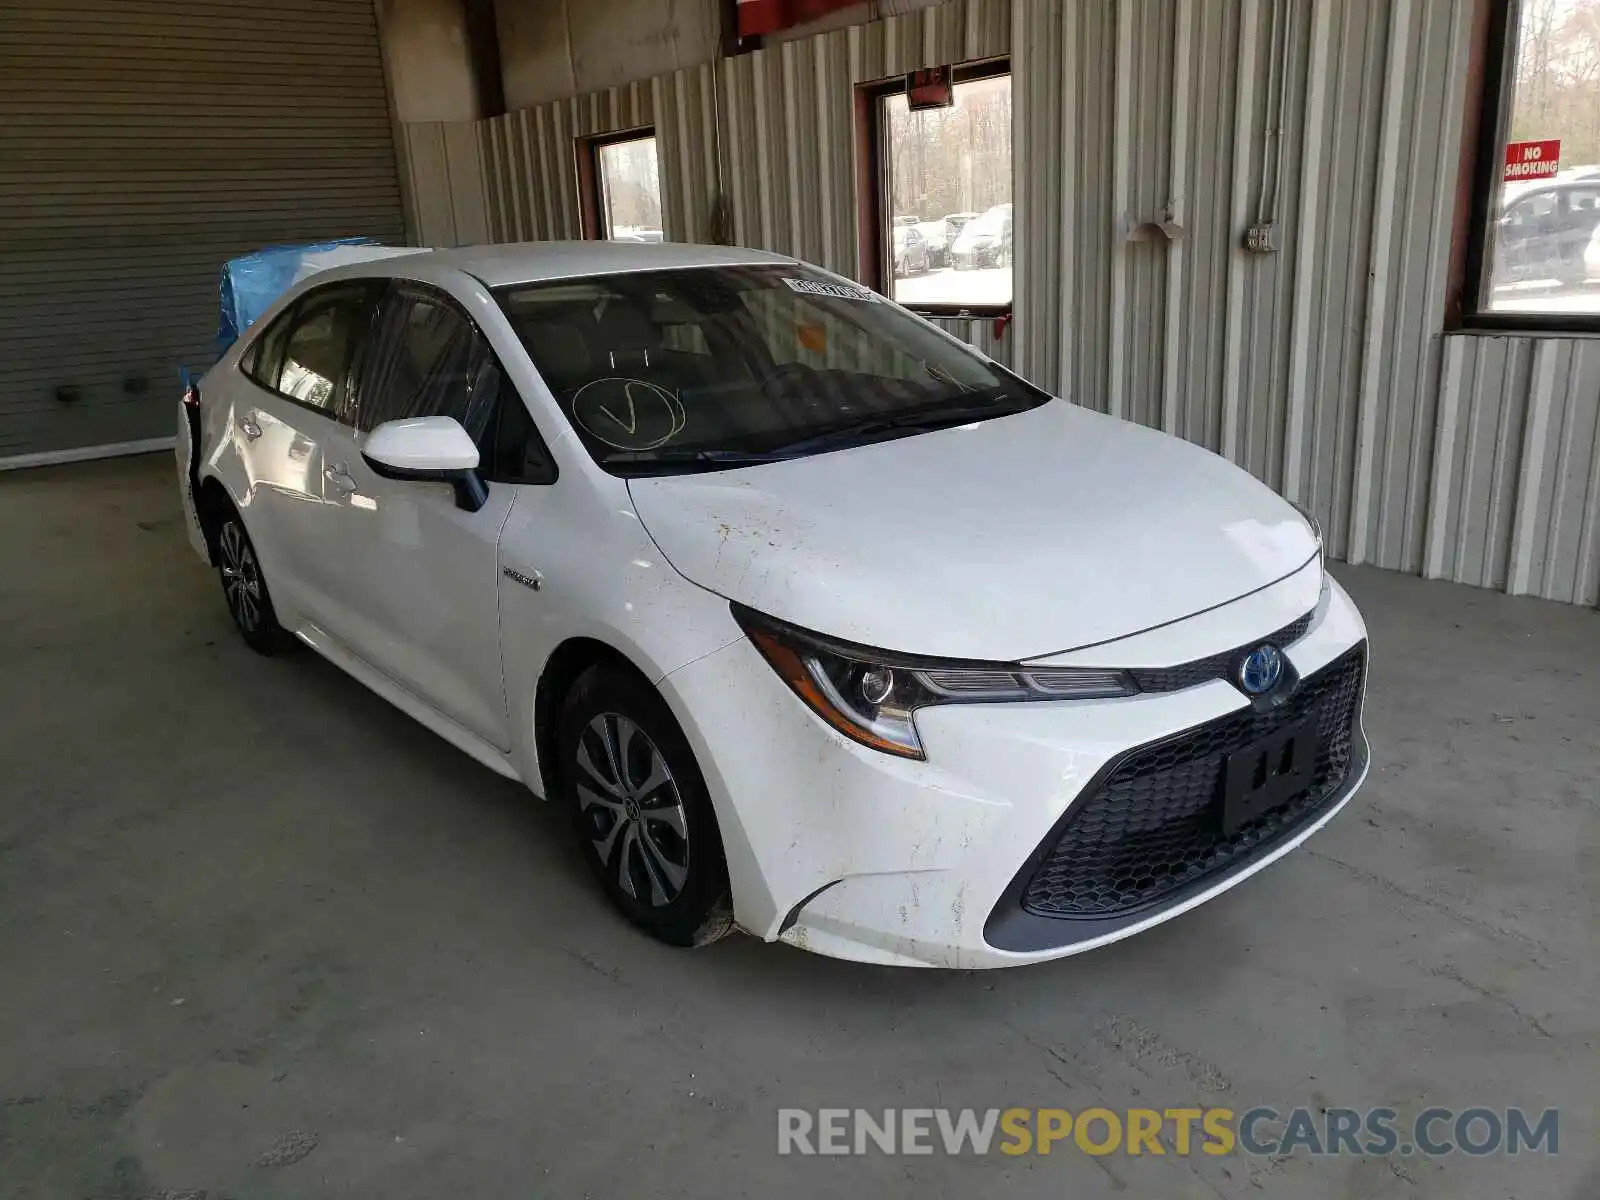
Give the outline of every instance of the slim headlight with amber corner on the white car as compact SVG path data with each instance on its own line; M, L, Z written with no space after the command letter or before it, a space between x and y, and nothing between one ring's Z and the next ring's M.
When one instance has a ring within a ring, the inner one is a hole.
M835 642L733 605L733 616L779 678L846 738L925 758L912 715L933 704L1109 699L1138 686L1123 670L918 659Z

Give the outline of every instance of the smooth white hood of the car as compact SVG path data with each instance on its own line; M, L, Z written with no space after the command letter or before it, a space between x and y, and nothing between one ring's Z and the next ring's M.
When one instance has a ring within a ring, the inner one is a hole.
M1014 661L1234 600L1317 541L1216 454L1053 400L738 470L632 478L685 578L882 650Z

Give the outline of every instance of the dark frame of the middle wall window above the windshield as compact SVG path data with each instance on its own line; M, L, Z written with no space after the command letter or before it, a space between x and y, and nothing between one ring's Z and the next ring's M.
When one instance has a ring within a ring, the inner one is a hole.
M981 78L998 78L1011 75L1011 58L971 59L950 67L950 83L958 86ZM1016 80L1013 75L1013 86ZM883 101L890 96L906 93L906 75L856 85L856 200L859 230L859 266L862 282L874 291L894 299L894 270L890 266L894 238L890 232L893 213L890 211L890 158L888 130L885 122ZM1013 160L1011 160L1011 192L1016 194L1016 109L1013 107ZM1014 198L1013 198L1014 203ZM1011 262L1016 270L1016 210L1011 210ZM1010 317L1016 306L1016 275L1011 277L1011 301L1006 304L906 304L894 301L904 309L910 309L920 317L941 320L987 320L990 317Z

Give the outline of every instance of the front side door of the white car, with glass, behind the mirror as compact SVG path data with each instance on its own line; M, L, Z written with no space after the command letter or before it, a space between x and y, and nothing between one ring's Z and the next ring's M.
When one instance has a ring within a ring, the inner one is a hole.
M384 421L450 416L488 469L496 408L510 389L466 312L421 283L390 285L362 357L355 427L339 432L334 454L349 475L338 499L336 570L360 621L334 632L411 694L510 749L498 546L515 488L491 483L488 502L466 512L448 483L389 480L362 459L366 435Z

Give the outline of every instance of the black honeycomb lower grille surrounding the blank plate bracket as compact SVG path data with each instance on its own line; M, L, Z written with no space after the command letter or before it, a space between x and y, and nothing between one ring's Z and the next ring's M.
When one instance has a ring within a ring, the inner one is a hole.
M1078 800L1054 848L1022 891L1040 917L1104 918L1227 870L1331 803L1350 773L1366 670L1362 643L1301 682L1278 709L1245 709L1133 750ZM1315 720L1312 784L1278 808L1222 834L1222 763L1277 730Z

